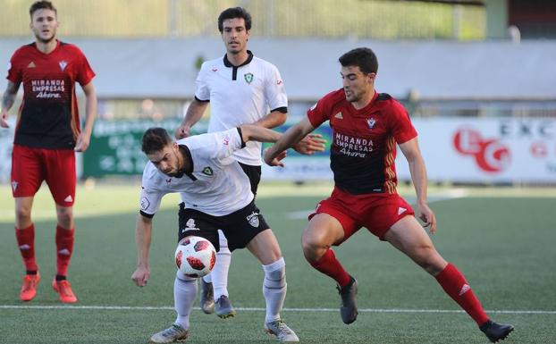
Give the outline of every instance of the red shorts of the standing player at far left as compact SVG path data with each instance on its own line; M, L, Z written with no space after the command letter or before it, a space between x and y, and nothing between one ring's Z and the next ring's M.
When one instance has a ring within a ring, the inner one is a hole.
M58 206L75 199L75 153L72 149L43 149L13 145L13 197L33 197L46 180Z

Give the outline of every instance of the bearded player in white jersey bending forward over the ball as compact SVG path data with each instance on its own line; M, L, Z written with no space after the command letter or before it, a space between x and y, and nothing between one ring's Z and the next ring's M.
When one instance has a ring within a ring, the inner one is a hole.
M255 205L247 175L231 156L248 141L275 142L280 136L273 130L249 124L177 142L173 142L162 128L145 132L142 150L149 162L143 172L140 213L136 223L138 267L131 276L139 287L147 284L150 275L148 250L152 218L165 194L180 192L184 206L181 207L178 241L195 235L210 240L219 250L218 230L221 230L228 238L231 250L248 248L265 272L265 331L280 341L299 341L280 317L287 285L285 262L278 241ZM176 320L168 329L154 334L151 342L187 339L197 289L197 279L180 271L176 273L173 286Z

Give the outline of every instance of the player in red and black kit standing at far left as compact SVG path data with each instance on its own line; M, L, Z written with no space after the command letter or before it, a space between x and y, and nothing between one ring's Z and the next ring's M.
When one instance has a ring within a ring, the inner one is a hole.
M23 84L12 155L12 191L15 198L15 236L27 273L20 298L30 301L40 280L35 262L35 227L31 221L33 197L43 180L56 204L56 276L52 287L64 303L77 298L66 280L73 250L75 153L87 149L97 114L95 73L77 46L56 38L59 23L55 6L38 1L29 8L35 42L21 46L10 60L8 85L2 97L0 126L8 127L8 110ZM80 130L75 83L86 97L86 121Z

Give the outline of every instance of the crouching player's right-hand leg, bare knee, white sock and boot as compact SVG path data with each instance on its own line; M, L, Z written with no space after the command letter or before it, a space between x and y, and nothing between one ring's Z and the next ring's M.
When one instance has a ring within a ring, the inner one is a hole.
M280 317L288 285L286 264L273 231L270 229L261 231L249 241L247 248L263 264L265 272L263 281L263 295L266 301L265 331L281 341L299 341L295 332Z

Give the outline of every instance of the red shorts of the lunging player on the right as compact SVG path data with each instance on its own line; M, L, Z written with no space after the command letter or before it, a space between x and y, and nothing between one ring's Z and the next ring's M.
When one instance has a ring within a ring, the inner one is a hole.
M415 215L409 203L398 194L352 195L334 188L333 193L316 205L316 214L329 214L341 223L347 240L361 227L383 240L384 234L392 225L406 215ZM340 245L337 243L336 245Z

